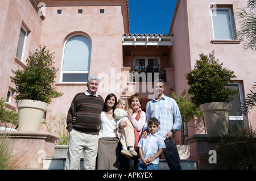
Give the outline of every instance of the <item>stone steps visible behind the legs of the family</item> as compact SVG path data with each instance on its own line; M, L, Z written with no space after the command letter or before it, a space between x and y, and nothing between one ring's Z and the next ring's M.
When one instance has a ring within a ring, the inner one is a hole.
M183 170L197 170L197 161L189 159L189 146L177 145L180 154L180 165ZM45 158L43 161L43 169L46 170L64 170L67 156L67 145L55 145L54 156L52 158ZM80 167L82 169L82 162L84 158L81 157ZM159 170L169 170L166 159L160 159Z

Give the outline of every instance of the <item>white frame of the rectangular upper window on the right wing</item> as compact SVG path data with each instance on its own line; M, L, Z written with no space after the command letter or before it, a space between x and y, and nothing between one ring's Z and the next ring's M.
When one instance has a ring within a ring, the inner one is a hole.
M233 11L232 11L232 8L231 7L214 7L214 8L211 8L211 11L212 11L212 31L213 31L213 39L214 40L219 40L219 39L216 39L215 38L215 33L214 33L214 24L213 24L213 16L214 16L214 11L218 11L218 10L222 10L222 11L225 11L225 10L228 10L229 12L229 23L230 23L230 31L231 31L231 36L232 36L232 39L225 39L225 40L235 40L236 39L236 34L235 34L235 31L234 31L234 20L233 20Z

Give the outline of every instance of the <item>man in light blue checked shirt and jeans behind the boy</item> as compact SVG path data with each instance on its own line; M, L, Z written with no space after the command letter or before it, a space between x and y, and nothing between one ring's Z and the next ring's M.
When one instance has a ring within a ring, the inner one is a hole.
M174 134L180 130L182 120L179 107L174 99L163 94L164 81L155 81L155 98L150 100L146 106L146 124L144 125L143 138L148 136L147 120L156 117L159 120L158 134L162 136L166 149L164 156L170 169L181 169L180 157L174 140Z

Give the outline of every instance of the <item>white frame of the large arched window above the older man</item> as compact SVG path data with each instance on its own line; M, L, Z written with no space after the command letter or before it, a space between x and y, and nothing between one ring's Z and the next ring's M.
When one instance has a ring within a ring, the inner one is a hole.
M61 82L61 83L87 83L87 81L85 81L85 82L63 82L63 74L64 74L64 73L72 73L72 74L87 73L87 74L88 74L88 78L89 78L89 72L90 72L90 71L67 71L67 70L63 70L64 54L65 54L65 47L66 47L66 44L67 44L67 42L68 42L69 39L71 39L72 37L77 36L77 35L79 35L79 36L85 36L84 34L76 33L76 34L74 34L74 35L72 35L72 36L69 36L68 39L67 39L67 40L65 41L65 43L64 43L64 46L63 46L63 54L62 54L62 62L61 62L61 71L60 71L60 82ZM85 37L87 37L87 38L90 40L90 38L89 38L88 36L85 36Z

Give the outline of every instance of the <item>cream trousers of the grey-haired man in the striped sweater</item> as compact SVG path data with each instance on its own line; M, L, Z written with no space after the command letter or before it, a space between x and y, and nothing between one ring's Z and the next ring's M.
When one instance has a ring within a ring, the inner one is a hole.
M98 135L81 133L73 129L69 133L65 170L79 169L82 151L84 151L83 169L94 170L96 168L98 138Z

